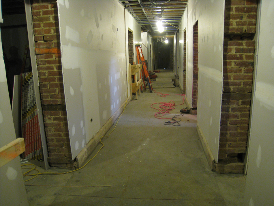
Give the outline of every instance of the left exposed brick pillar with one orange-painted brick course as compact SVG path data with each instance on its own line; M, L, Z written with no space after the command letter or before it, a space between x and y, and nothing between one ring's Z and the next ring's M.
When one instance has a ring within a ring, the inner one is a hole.
M33 33L51 166L72 167L65 110L57 1L32 1Z

